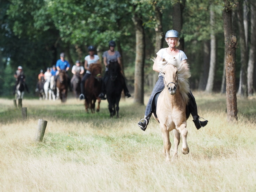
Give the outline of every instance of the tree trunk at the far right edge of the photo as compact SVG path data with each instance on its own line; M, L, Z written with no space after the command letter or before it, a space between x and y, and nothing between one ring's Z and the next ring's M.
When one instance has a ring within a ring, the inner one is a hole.
M253 81L254 81L254 64L256 62L256 2L251 0L251 47L249 52L249 62L247 68L247 86L248 95L253 95Z

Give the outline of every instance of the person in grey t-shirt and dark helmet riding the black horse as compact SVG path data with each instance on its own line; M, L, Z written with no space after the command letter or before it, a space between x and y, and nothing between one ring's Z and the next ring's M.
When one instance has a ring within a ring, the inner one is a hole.
M120 60L121 55L118 51L115 51L115 47L116 47L116 42L111 40L109 42L109 50L107 50L103 53L104 65L106 67L106 70L105 70L105 75L104 75L104 79L103 79L103 83L102 83L102 90L101 90L101 93L99 94L100 99L106 99L105 98L105 94L106 94L105 83L106 83L106 79L109 76L109 72L107 69L107 65L109 64L109 61L117 61L119 64L121 64L121 60ZM127 98L131 97L129 90L125 83L125 77L123 75L122 75L122 78L123 78L123 90L125 92L125 96Z

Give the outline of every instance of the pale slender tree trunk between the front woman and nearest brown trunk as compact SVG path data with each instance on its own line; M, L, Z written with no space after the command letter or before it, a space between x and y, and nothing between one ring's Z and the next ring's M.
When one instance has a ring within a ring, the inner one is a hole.
M211 59L210 59L210 69L208 75L208 81L206 85L206 92L211 93L213 91L214 75L215 75L215 66L216 66L216 36L214 34L214 10L213 5L210 9L210 25L211 25Z

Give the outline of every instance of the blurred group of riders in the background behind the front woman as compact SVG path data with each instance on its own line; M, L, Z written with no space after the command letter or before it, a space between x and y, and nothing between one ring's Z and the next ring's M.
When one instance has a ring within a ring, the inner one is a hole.
M106 67L105 69L105 75L103 78L103 82L105 82L105 80L108 78L109 73L108 73L108 69L107 69L107 65L109 64L110 61L115 62L117 61L119 64L121 63L120 61L120 53L118 51L115 50L116 47L116 43L114 41L110 41L109 42L109 50L107 50L106 52L104 52L103 54L103 59L104 59L104 66ZM40 74L38 74L38 83L36 85L36 92L40 92L43 90L40 90L40 83L41 82L45 82L45 81L50 81L50 78L52 76L54 76L54 82L56 83L57 77L58 77L58 73L59 71L66 71L66 77L68 79L68 84L69 84L69 88L70 90L72 90L71 85L73 84L73 81L76 79L76 75L79 74L82 76L81 78L81 83L80 83L80 89L81 89L81 94L79 95L79 99L80 100L84 100L85 99L85 81L91 76L91 72L89 71L89 66L91 64L100 64L100 57L98 55L95 54L95 47L94 46L89 46L88 47L88 53L89 55L87 55L85 57L85 63L84 63L84 67L81 66L80 61L76 61L76 64L72 67L71 72L73 74L73 77L69 78L69 75L67 74L67 71L70 68L70 64L68 61L65 60L65 54L61 53L60 54L60 59L56 62L56 65L52 66L52 67L48 67L47 71L45 73L43 73L43 69L41 69ZM86 71L86 72L85 72ZM18 70L15 73L15 77L17 79L17 76L19 76L20 74L23 74L22 71L22 67L19 66ZM85 74L84 74L85 73ZM83 75L84 74L84 75ZM124 76L122 76L123 80L124 80ZM131 97L128 88L125 84L125 81L123 81L123 90L125 93L126 97ZM55 88L55 86L54 86ZM99 94L100 99L105 100L106 99L106 90L105 90L105 84L102 83L102 91Z

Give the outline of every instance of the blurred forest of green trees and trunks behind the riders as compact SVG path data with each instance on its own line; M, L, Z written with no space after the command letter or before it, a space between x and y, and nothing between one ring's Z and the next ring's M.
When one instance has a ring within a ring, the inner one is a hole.
M236 87L244 97L256 87L255 5L254 0L232 3ZM143 104L140 95L157 80L150 58L167 47L164 35L170 29L180 33L190 87L225 93L224 10L222 0L1 0L0 95L12 95L17 66L23 67L32 96L40 69L56 64L61 52L72 67L76 60L84 62L89 45L101 58L115 40L128 84L139 85L135 102Z

